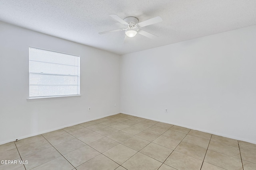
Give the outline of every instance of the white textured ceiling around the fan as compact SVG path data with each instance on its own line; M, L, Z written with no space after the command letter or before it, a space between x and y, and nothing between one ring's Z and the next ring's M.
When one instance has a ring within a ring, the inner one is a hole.
M133 16L159 38L128 38L108 14ZM132 53L188 39L256 25L256 0L0 0L0 21L117 54Z

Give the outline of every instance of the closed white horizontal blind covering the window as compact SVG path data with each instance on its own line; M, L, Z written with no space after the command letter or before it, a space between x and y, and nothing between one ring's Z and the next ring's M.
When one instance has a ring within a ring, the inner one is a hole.
M80 56L29 47L29 98L80 94Z

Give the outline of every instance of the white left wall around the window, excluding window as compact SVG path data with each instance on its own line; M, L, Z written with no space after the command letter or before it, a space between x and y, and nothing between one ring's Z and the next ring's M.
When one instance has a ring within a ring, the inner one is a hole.
M28 102L29 46L80 55L82 96ZM119 69L119 55L0 22L0 144L119 113Z

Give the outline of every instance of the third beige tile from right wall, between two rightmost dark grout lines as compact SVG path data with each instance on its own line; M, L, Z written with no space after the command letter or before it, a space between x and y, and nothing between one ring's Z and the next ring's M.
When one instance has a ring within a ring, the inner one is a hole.
M243 169L241 159L234 158L219 152L214 152L212 150L207 150L204 161L228 170Z

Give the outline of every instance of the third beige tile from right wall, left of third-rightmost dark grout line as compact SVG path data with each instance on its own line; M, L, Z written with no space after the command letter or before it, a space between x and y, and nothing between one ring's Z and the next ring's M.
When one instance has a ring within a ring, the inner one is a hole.
M152 141L153 143L156 143L158 145L162 145L164 147L167 147L169 149L174 150L180 143L180 141L170 138L170 137L166 137L163 135L160 135L158 138L156 138L154 141Z

